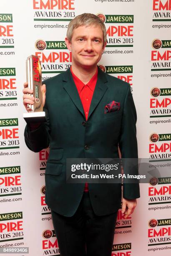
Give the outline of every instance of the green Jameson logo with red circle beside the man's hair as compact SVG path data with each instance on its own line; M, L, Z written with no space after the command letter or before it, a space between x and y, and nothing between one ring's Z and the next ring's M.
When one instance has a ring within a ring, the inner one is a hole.
M133 23L133 15L104 15L98 13L97 16L104 23Z

